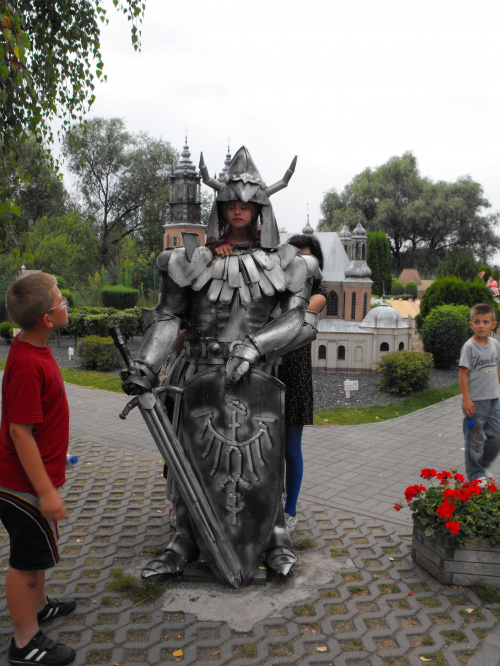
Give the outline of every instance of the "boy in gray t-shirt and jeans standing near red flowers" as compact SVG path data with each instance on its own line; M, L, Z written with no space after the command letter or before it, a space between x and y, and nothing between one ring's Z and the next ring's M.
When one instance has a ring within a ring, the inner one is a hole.
M486 486L485 468L500 451L500 344L490 337L497 325L494 309L474 305L469 324L474 335L462 347L459 372L465 470L469 481L479 479Z

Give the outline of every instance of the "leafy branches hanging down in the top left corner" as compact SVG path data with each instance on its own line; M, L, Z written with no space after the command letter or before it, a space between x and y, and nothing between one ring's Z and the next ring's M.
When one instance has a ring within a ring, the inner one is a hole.
M144 0L113 0L132 21L139 47ZM51 123L81 120L102 76L100 26L107 22L100 0L1 0L0 2L0 233L19 209L6 179L18 167L19 145L30 136L53 139Z

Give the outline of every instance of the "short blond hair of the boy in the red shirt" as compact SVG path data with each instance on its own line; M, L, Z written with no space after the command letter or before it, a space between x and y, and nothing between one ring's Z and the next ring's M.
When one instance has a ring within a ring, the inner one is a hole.
M7 308L19 326L29 331L50 310L57 280L48 273L31 273L18 278L7 289Z

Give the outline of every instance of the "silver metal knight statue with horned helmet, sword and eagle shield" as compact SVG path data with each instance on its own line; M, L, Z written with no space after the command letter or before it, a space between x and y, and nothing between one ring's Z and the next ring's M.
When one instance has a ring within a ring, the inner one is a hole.
M307 306L320 271L312 255L279 245L269 201L295 163L268 187L244 146L220 180L201 155L203 181L216 191L207 245L184 234L184 247L157 259L159 304L144 311L147 331L122 381L150 414L160 451L163 440L173 442L165 460L179 501L174 536L143 578L180 574L201 555L221 581L240 587L263 560L279 576L291 575L297 560L283 514L285 387L276 367L316 336L319 315ZM170 419L151 416L167 359Z

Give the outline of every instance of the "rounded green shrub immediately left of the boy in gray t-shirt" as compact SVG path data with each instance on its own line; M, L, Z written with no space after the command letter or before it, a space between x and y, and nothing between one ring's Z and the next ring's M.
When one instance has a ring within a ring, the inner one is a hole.
M420 332L424 349L434 357L436 368L449 368L460 358L469 337L469 312L466 305L439 305L425 318Z

